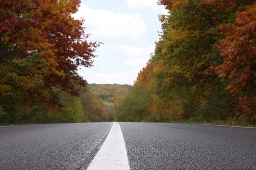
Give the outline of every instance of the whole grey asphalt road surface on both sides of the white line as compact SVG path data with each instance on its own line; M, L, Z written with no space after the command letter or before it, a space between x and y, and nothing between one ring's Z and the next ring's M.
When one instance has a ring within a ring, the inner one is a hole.
M118 139L108 139L108 133L117 138L112 124L0 127L0 170L87 169L97 153L104 157L108 147L115 148L111 141ZM256 129L129 122L118 127L130 169L256 170Z

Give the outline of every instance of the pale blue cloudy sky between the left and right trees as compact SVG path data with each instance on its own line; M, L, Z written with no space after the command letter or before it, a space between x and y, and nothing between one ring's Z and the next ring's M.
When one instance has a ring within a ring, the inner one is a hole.
M157 14L166 13L157 0L81 0L73 17L84 18L87 41L104 44L94 53L94 66L79 68L79 75L88 83L133 85L159 40Z

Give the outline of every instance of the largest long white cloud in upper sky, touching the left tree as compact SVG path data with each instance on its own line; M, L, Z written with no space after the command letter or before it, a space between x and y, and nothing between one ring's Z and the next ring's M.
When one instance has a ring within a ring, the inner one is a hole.
M134 39L145 35L146 24L140 14L113 13L104 9L91 9L81 4L79 11L73 17L85 19L87 31L103 37L125 36Z

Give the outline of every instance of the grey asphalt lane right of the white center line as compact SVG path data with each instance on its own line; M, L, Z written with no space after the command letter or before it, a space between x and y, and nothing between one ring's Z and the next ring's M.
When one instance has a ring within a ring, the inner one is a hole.
M256 170L256 129L119 122L131 169Z

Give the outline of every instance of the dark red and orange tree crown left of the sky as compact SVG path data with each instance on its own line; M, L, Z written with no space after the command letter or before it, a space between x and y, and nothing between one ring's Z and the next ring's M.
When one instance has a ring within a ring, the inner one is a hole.
M58 86L77 95L74 85L86 85L77 74L78 67L93 65L93 52L100 44L87 42L89 35L82 26L84 20L72 17L80 3L80 0L0 0L0 43L3 50L0 60L3 67L12 65L14 60L40 53L43 55L41 60L48 63L47 74L41 79L44 86L48 89ZM29 70L27 74L38 73ZM19 76L14 79L19 79ZM2 94L8 95L5 89L12 89L15 82L2 83Z

